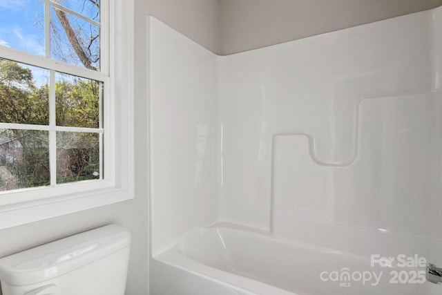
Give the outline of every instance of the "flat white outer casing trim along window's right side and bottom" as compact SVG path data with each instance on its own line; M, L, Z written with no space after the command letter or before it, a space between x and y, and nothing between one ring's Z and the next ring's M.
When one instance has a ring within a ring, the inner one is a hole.
M115 167L113 186L75 194L66 193L66 186L67 189L60 196L0 206L0 229L134 198L134 4L133 0L115 0L110 3L110 15L115 16L115 21L110 24L111 46L108 53L113 61L110 73L113 87L113 117L110 119L115 131L111 144Z

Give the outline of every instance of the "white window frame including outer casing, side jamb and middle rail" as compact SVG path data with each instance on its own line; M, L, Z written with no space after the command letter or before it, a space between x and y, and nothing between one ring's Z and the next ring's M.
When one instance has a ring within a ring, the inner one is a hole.
M106 169L104 180L2 193L0 195L0 229L134 198L133 1L109 0L108 8L104 7L102 12L103 15L109 15L111 19L108 21L109 34L103 38L108 40L106 43L108 42L109 46L102 46L102 50L107 50L105 55L108 55L110 61L103 66L108 68L108 81L106 81L108 83L104 85L109 87L107 91L109 95L105 98L105 106L109 107L107 112L111 115L104 117L104 120L108 120L104 126L110 126L105 130L105 138L108 138L105 149L110 149L110 153L106 151L110 157L106 162L111 163L111 168ZM105 21L104 17L103 21ZM7 59L34 66L39 66L38 63L41 62L42 67L50 62L53 63L51 64L53 69L66 73L66 65L61 62L48 60L45 57L41 57L41 61L36 62L35 56L27 53L7 48L2 50L8 51L7 56L4 56ZM1 51L0 56L2 56ZM106 63L106 61L102 62ZM93 79L90 71L85 70L85 74L87 75L84 77ZM102 79L101 77L98 80ZM79 186L81 188L76 189ZM73 191L76 192L73 193ZM12 200L19 200L19 202L12 202Z

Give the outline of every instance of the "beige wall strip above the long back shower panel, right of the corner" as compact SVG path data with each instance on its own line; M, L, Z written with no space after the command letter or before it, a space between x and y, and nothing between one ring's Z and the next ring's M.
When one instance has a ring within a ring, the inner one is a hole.
M220 0L218 53L262 48L441 5L442 0Z

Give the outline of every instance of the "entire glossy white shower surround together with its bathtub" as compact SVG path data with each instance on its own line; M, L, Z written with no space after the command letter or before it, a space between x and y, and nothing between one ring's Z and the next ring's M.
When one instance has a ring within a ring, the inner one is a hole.
M150 17L151 293L440 294L398 258L442 265L441 18L217 56Z

